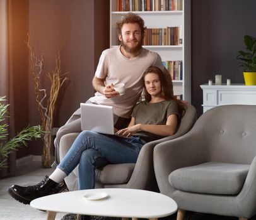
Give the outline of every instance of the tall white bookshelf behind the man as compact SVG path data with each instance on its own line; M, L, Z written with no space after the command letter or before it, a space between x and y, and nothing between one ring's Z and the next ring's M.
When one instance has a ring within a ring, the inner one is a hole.
M125 0L127 1L127 0ZM123 2L125 2L123 0ZM139 1L140 4L144 0ZM146 0L145 0L146 1ZM161 0L159 0L161 3ZM164 0L165 1L165 0ZM175 0L177 1L177 0ZM136 13L144 19L147 28L167 28L181 26L182 44L178 45L143 45L144 48L157 52L163 62L182 61L181 79L173 79L173 92L175 95L182 95L182 99L191 101L191 49L190 49L190 0L182 1L182 10L173 11L117 11L117 4L120 0L110 0L110 47L118 45L115 23L122 19L124 14ZM154 1L156 2L156 1ZM163 1L162 1L163 2ZM166 1L165 1L166 2ZM170 1L171 2L171 1ZM160 8L160 6L159 6ZM154 6L156 9L156 6Z

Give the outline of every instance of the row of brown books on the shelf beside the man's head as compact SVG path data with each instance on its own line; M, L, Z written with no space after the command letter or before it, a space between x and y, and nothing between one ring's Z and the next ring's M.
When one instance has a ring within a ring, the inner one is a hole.
M182 25L167 28L147 28L143 45L182 45Z

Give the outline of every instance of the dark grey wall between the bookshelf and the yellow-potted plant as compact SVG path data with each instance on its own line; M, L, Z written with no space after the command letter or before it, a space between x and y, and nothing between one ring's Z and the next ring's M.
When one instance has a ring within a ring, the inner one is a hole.
M256 37L255 0L192 0L192 104L202 114L199 85L216 73L223 82L244 82L236 70L236 52L244 50L243 36Z

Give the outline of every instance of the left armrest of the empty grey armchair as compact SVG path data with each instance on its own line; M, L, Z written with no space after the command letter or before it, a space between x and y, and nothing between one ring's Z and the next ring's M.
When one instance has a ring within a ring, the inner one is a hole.
M168 182L173 170L207 162L208 147L204 131L189 133L160 143L154 148L154 172L160 192L170 196L175 190Z

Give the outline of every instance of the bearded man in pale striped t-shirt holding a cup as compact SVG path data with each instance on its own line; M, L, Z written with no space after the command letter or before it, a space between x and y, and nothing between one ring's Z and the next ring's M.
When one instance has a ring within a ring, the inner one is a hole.
M170 87L172 79L163 66L160 55L142 47L144 31L143 19L134 13L128 13L117 21L116 28L120 45L102 52L98 67L93 77L95 96L86 103L113 106L115 128L127 126L131 118L132 109L141 97L143 91L142 77L146 69L155 66L166 74ZM113 89L115 84L125 84L125 94L120 96ZM57 132L55 145L55 167L59 163L59 141L67 133L81 132L81 113L78 109L71 118Z

